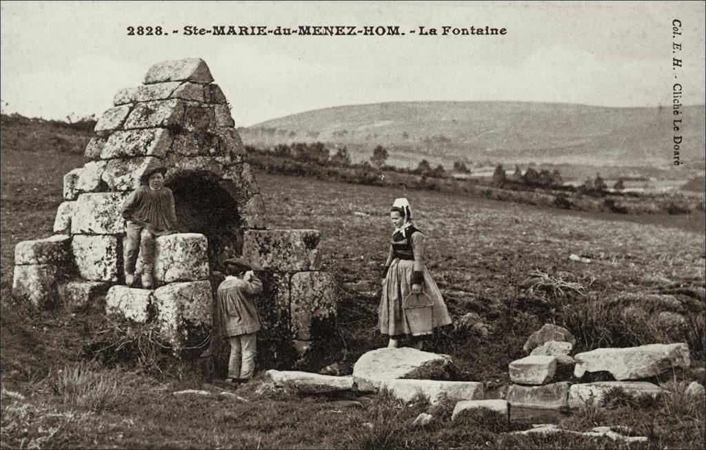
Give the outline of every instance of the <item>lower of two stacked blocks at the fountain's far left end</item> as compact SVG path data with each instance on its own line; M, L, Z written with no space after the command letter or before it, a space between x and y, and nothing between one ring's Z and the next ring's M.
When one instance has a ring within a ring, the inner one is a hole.
M16 299L29 301L38 309L54 308L59 304L56 285L60 275L58 265L16 265L12 295Z

